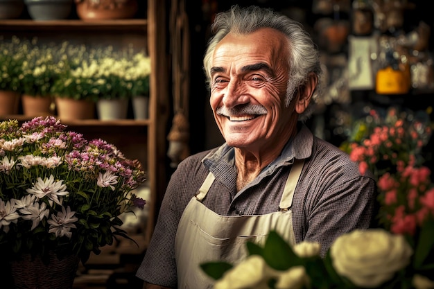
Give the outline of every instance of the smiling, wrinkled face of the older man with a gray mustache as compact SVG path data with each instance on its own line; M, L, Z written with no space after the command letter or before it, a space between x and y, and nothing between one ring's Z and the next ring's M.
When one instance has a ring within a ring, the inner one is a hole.
M271 28L229 33L217 44L209 101L229 146L280 151L295 131L295 101L285 107L287 45L284 35Z

